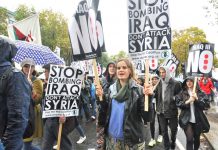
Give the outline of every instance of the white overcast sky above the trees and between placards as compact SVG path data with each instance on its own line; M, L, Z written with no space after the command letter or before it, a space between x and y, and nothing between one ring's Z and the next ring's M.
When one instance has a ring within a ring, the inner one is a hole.
M206 11L203 9L207 0L168 1L172 30L198 27L206 33L209 42L215 43L218 52L218 26L208 25L210 20L206 19ZM78 2L79 0L0 0L0 6L14 11L19 4L25 4L33 6L36 11L52 9L70 18L75 13ZM99 10L107 52L111 55L120 50L128 52L127 0L100 0Z

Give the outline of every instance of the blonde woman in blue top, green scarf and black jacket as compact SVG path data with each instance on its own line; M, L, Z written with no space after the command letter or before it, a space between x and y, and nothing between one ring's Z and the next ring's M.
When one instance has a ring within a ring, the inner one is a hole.
M97 96L103 96L100 105L107 110L106 150L142 150L145 147L143 87L133 79L133 65L128 59L117 61L116 76L108 96L101 87L96 88Z

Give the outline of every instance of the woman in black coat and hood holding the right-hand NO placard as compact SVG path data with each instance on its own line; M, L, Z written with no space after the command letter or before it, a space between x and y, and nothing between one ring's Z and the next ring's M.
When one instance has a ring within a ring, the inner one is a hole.
M198 150L200 146L200 134L205 131L205 121L207 119L203 110L209 105L208 97L196 87L194 88L194 78L187 77L182 84L182 91L176 96L176 105L181 109L179 125L186 135L186 150ZM204 116L204 119L201 118Z

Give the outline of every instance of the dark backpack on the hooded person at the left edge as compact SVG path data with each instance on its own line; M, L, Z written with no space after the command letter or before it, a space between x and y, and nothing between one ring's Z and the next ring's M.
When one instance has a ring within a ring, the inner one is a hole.
M8 79L13 75L13 67L8 68L1 76L0 76L0 139L2 138L5 128L7 119L7 108L6 108L6 100L4 101L4 96L6 96L6 87Z

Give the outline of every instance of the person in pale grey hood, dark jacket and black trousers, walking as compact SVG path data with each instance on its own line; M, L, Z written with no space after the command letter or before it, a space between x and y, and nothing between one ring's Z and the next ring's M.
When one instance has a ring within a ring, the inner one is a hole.
M164 149L172 150L176 147L178 127L178 109L175 96L181 91L181 84L170 76L167 66L159 68L160 82L154 91L156 98L156 112L159 115L163 135ZM170 128L171 135L168 133Z

